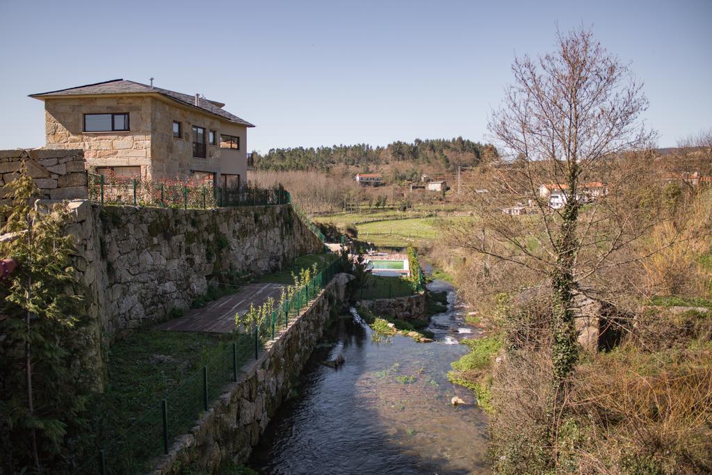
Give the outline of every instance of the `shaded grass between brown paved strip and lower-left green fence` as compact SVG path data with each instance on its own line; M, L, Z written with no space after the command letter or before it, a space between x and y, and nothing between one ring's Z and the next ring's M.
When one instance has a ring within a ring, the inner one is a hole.
M160 400L169 400L170 436L186 432L197 416L192 404L201 406L201 395L179 394L179 387L189 389L182 383L202 366L212 367L226 338L231 335L142 330L112 345L105 392L90 403L98 432L88 434L88 459L95 459L100 444L117 468L143 470L160 444ZM214 394L222 386L216 381L210 390Z

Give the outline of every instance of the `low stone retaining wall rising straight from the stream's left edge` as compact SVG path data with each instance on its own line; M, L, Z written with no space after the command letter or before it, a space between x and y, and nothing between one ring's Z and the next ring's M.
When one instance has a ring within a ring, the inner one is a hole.
M350 278L337 274L310 306L266 345L257 360L246 363L238 382L226 387L192 431L174 442L154 473L179 473L187 464L197 466L201 473L217 473L221 461L246 462L319 342L330 313L345 302Z

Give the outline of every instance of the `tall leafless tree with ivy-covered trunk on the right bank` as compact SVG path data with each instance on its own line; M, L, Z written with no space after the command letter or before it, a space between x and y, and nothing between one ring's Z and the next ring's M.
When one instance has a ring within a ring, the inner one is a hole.
M516 58L512 71L514 82L488 124L510 160L489 167L488 193L475 194L481 231L449 231L493 265L545 276L560 386L577 361L575 292L597 271L627 261L621 250L648 227L636 222L641 200L626 189L647 159L626 152L649 147L654 132L641 119L648 105L642 84L590 31L557 33L556 51ZM561 201L551 202L551 194ZM502 214L516 201L536 213Z

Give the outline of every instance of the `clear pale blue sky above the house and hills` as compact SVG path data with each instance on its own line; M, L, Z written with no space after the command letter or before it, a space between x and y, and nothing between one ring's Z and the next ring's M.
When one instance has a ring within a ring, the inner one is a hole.
M712 127L712 0L0 0L0 149L44 143L30 93L114 78L221 100L248 148L486 138L515 54L592 25L645 82L659 145Z

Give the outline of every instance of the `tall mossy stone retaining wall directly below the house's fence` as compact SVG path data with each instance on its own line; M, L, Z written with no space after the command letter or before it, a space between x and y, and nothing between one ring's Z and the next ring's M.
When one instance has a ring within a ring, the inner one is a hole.
M211 283L323 251L290 205L203 209L73 202L76 266L111 339L189 308Z

